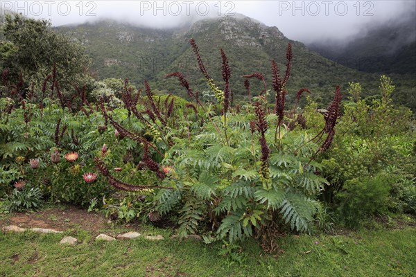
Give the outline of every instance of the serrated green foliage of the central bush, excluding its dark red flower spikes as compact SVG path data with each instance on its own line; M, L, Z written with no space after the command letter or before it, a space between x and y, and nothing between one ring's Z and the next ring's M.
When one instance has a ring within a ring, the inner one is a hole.
M305 170L302 165L316 145L303 148L301 155L291 154L311 136L282 134L284 151L270 155L270 183L265 183L259 173L260 147L253 145L253 135L245 128L248 121L236 123L236 118L229 117L229 146L218 143L220 138L212 133L214 130L198 134L191 142L176 139L165 161L175 163L177 190L159 192L157 211L162 215L177 211L182 235L198 231L198 222L221 221L220 238L227 235L232 241L240 240L279 218L293 230L311 231L313 215L320 207L313 197L320 193L325 180L313 174L318 163ZM268 133L268 139L273 136L273 132ZM275 146L270 145L273 150Z

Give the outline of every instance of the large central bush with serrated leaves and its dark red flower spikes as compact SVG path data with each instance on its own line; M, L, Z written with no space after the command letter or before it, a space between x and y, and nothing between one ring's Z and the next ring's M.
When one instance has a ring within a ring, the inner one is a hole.
M291 70L290 45L286 56L288 68L283 79L279 78L277 65L272 62L277 99L275 113L269 114L267 98L259 97L254 98L257 101L255 107L248 107L245 114L240 114L229 106L229 68L223 50L220 52L225 91L214 84L205 71L198 47L193 40L191 44L211 91L223 107L222 116L214 118L201 105L211 124L204 125L203 129L191 129L188 125L187 137L176 136L175 144L166 150L162 164L174 166L168 175L172 179L164 179L163 184L173 190L159 191L155 197L157 211L160 215L175 213L179 216L181 236L196 233L200 225L205 224L216 230L217 239L227 237L230 242L256 231L260 233L270 222L288 224L294 231L310 232L313 217L320 208L315 197L326 183L325 179L315 175L320 164L312 159L317 151L324 151L331 144L333 125L338 116L339 89L325 129L318 136L299 130L290 132L283 124L284 85ZM179 78L189 95L194 96L182 74L168 76ZM245 77L263 80L261 73ZM304 91L308 90L301 89L297 93L297 100ZM200 104L198 98L196 100ZM293 111L286 120L295 125ZM317 143L325 133L328 133L327 139L319 147Z

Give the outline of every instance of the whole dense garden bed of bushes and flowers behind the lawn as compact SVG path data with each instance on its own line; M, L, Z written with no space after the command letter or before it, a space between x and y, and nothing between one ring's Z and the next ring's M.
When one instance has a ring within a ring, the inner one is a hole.
M19 20L26 19L9 18L5 29ZM243 75L248 101L237 105L227 49L216 54L213 78L190 42L209 93L194 91L180 72L165 76L188 100L116 78L62 91L60 82L78 73L60 75L58 60L43 82L13 83L19 68L4 69L2 210L79 204L116 222L171 222L180 237L200 233L206 243L261 238L270 252L279 233L416 213L415 120L392 102L390 78L381 76L373 98L362 99L359 83L334 86L328 109L318 109L309 89L287 85L295 71L288 44L284 71L272 60L268 79Z

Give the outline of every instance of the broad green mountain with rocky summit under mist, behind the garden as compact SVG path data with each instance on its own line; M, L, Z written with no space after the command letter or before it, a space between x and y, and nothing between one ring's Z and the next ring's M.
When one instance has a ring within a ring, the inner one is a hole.
M223 80L219 49L223 48L232 69L231 84L236 101L245 98L241 75L261 72L267 78L268 89L272 89L270 62L275 59L284 74L288 42L293 46L288 100L294 98L297 90L306 87L325 105L337 84L346 91L348 82L361 82L366 96L377 93L379 84L379 74L363 74L328 60L304 44L289 40L277 27L266 26L249 17L203 19L191 26L164 30L110 20L61 26L58 30L85 45L94 60L92 70L97 78L128 78L137 87L143 87L144 80L149 80L154 90L179 96L186 96L185 91L177 80L166 80L167 73L181 71L194 91L209 91L189 45L191 37L196 39L205 67L220 88ZM414 90L408 80L392 78L399 82L402 93ZM254 95L261 91L260 82L252 80L252 89Z

